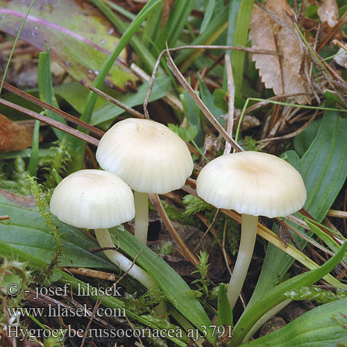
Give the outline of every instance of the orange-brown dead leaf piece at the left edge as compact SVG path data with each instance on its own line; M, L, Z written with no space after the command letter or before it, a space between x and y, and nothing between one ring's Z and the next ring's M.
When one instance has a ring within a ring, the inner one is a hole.
M20 151L31 146L33 126L17 124L0 114L0 152Z

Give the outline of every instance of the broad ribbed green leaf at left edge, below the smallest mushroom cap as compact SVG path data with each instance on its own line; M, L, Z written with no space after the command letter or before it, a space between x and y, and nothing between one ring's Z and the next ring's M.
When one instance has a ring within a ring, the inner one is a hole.
M49 262L55 254L56 239L50 233L46 221L40 217L35 200L0 189L1 214L8 214L10 221L0 221L0 242L13 248L35 255L44 262ZM115 269L101 255L90 253L97 244L81 230L67 226L53 219L62 237L63 253L60 266L83 266L98 269Z

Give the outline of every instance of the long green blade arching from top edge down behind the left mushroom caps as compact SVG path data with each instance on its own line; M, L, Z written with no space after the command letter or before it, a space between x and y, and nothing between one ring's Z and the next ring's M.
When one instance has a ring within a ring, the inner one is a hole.
M130 26L124 31L124 34L121 36L121 39L119 40L115 50L108 56L108 58L105 60L103 66L101 67L99 74L96 76L94 80L93 87L96 87L97 89L101 89L103 81L105 80L108 71L110 71L110 68L112 67L113 63L119 56L119 53L121 53L122 49L128 44L130 41L130 38L133 37L139 26L144 22L144 19L149 15L149 13L154 10L156 6L158 6L162 0L150 0L146 5L142 8L142 10L137 14L136 18L131 22ZM86 123L90 122L90 119L92 117L92 112L94 110L94 106L96 103L96 94L93 92L90 92L87 103L85 105L85 109L83 110L83 113L81 115L81 120L85 121ZM78 129L81 130L81 129ZM81 130L83 131L83 130ZM84 153L85 153L85 143L81 142L78 139L74 139L73 141L74 151L71 153L71 166L69 167L69 171L77 171L78 169L81 169L83 159L84 159Z

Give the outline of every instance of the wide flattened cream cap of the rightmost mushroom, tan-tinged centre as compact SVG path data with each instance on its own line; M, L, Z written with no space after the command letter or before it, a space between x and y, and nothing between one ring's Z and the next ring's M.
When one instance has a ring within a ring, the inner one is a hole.
M291 164L253 151L209 162L198 175L196 192L217 208L271 218L300 210L306 200L303 178Z

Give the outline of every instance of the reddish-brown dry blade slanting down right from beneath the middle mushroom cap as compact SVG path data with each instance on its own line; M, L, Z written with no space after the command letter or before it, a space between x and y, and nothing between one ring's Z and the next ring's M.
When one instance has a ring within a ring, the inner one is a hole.
M185 257L185 259L188 262L191 262L192 264L197 266L199 264L198 260L196 259L194 254L189 250L189 248L187 247L183 239L180 237L180 235L178 235L178 232L176 231L169 217L167 216L167 212L165 212L164 208L162 207L162 203L160 202L158 194L149 194L149 197L151 198L155 210L157 210L160 214L162 221L167 227L167 230L169 230L171 237L175 240L178 248L180 248L183 257Z

